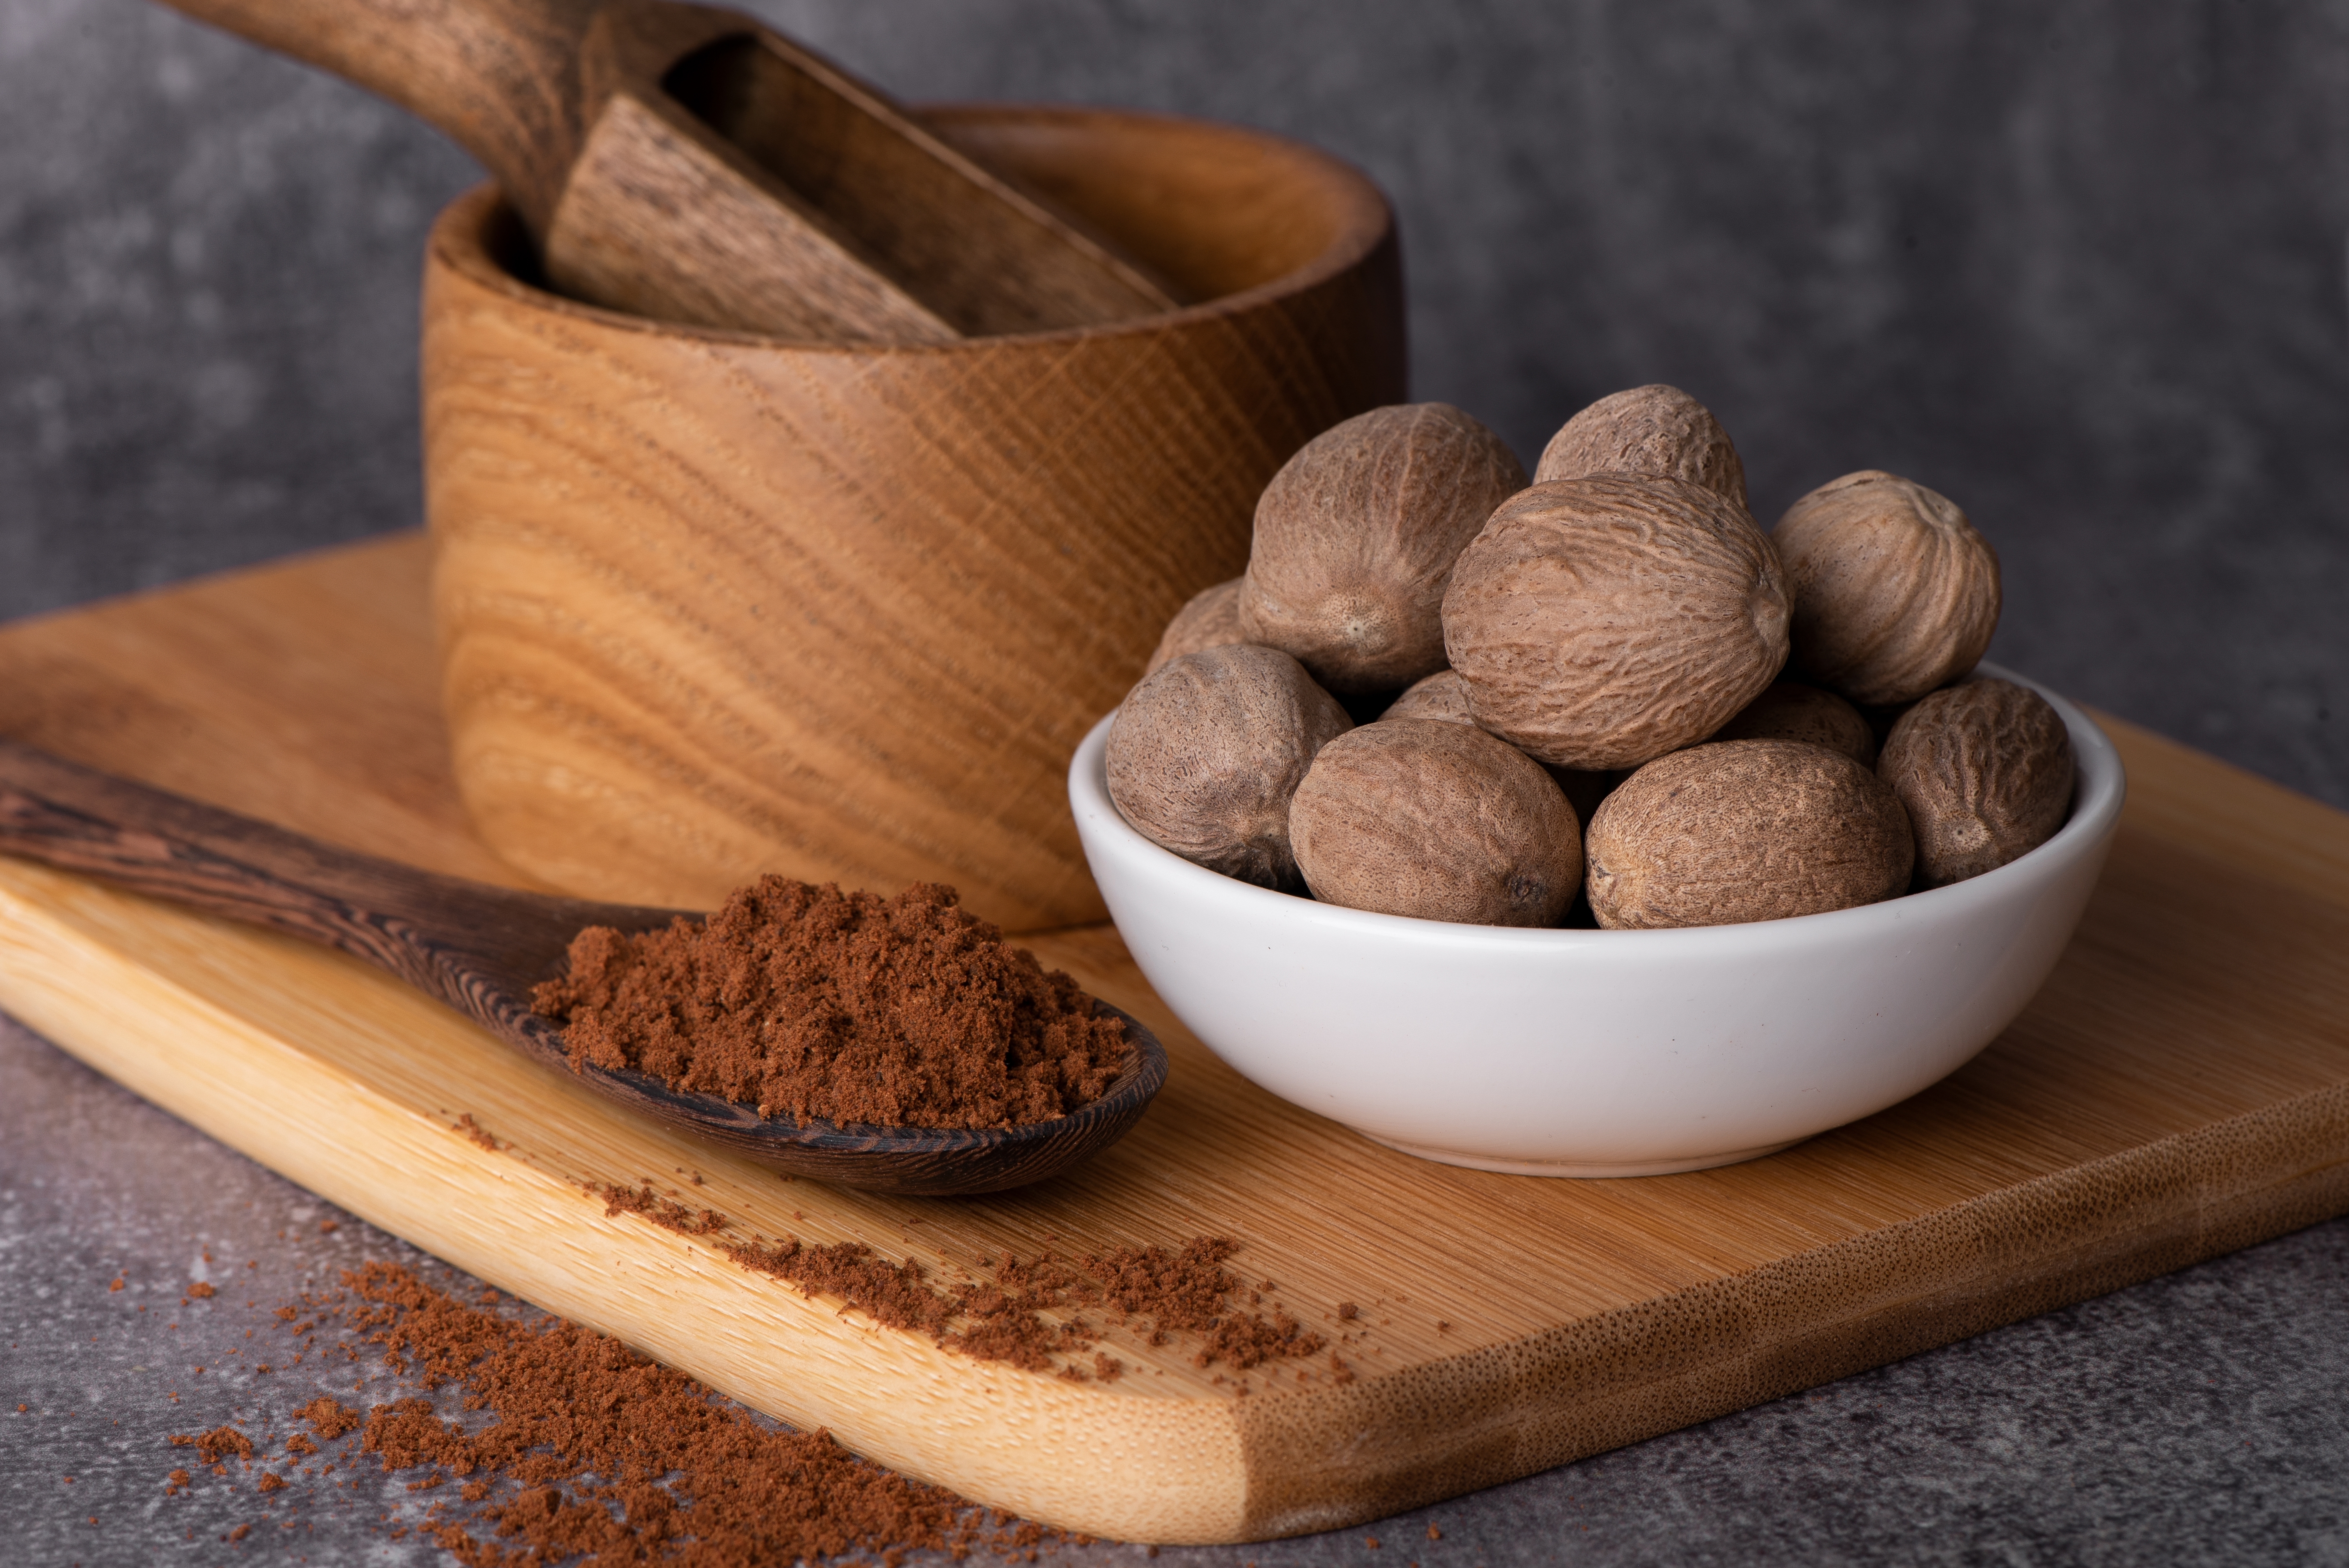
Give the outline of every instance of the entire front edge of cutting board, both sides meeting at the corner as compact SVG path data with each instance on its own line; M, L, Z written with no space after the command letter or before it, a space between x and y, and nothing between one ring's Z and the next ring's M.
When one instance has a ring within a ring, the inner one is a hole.
M251 1016L268 1006L237 997L240 980L294 980L298 1006L319 1009L322 1023L331 1013L341 1030L376 1013L371 1060L336 1063L289 1039L284 1018ZM829 1425L909 1474L1128 1540L1259 1540L1379 1519L2349 1208L2349 1084L2340 1084L1517 1342L1313 1394L1236 1401L1193 1389L1137 1401L1010 1368L972 1378L972 1363L918 1335L749 1276L707 1241L606 1215L583 1175L630 1185L693 1168L707 1180L691 1199L728 1213L756 1208L747 1194L768 1178L632 1124L341 954L0 863L0 1006L230 1147L507 1293L770 1415ZM423 1072L390 1081L388 1058L416 1037L463 1060L463 1091ZM209 1070L223 1060L242 1065L242 1081ZM425 1110L458 1095L465 1105ZM557 1100L545 1126L524 1110L533 1098ZM453 1126L472 1112L498 1135L521 1133L503 1152L482 1150ZM611 1152L580 1161L578 1150L597 1145ZM796 1215L787 1229L836 1239ZM2015 1241L2051 1229L2069 1237L2053 1258Z

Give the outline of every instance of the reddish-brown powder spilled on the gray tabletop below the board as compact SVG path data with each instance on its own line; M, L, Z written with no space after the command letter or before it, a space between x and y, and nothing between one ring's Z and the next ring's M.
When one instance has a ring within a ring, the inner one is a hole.
M916 1549L1031 1563L1038 1547L1085 1542L860 1460L824 1432L775 1429L620 1340L503 1305L385 1262L345 1272L341 1291L289 1302L303 1321L287 1333L327 1331L352 1361L371 1345L402 1396L364 1413L317 1396L291 1413L308 1434L218 1427L171 1443L228 1483L240 1465L270 1516L350 1495L371 1455L432 1497L418 1530L467 1568L888 1566ZM167 1493L211 1483L181 1467Z

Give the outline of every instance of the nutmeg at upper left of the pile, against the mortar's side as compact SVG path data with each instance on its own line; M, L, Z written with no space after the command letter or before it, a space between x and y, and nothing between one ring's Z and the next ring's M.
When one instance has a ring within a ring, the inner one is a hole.
M1240 628L1330 691L1409 686L1445 665L1452 562L1520 489L1517 456L1447 402L1332 425L1257 501Z

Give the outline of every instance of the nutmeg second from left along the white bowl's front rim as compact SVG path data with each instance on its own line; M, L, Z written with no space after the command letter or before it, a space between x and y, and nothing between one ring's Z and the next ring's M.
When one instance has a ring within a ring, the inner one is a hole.
M1555 926L1583 877L1574 806L1482 729L1379 719L1325 745L1290 802L1322 903L1473 926Z

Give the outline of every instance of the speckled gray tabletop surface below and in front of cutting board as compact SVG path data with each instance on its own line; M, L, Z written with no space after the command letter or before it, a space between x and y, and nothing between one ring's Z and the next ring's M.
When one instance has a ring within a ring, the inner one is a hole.
M7 1020L0 1103L0 1561L446 1561L390 1540L444 1493L409 1493L373 1460L338 1472L348 1490L308 1476L263 1500L235 1467L162 1490L188 1462L174 1432L242 1418L284 1434L322 1392L357 1408L413 1394L334 1356L242 1371L258 1356L233 1352L268 1345L244 1333L272 1326L270 1307L369 1258L465 1276ZM181 1305L193 1279L218 1295ZM1158 1561L2349 1563L2344 1286L2349 1220L2335 1220L1513 1486ZM221 1542L240 1523L251 1535ZM1144 1556L1104 1544L1057 1561Z

